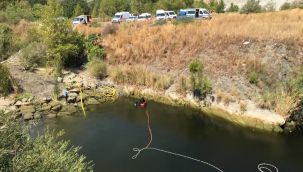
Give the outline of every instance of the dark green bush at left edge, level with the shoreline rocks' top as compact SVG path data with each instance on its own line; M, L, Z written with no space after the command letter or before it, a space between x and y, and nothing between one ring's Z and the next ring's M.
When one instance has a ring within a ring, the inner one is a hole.
M6 66L0 63L0 95L6 96L12 91L10 72Z

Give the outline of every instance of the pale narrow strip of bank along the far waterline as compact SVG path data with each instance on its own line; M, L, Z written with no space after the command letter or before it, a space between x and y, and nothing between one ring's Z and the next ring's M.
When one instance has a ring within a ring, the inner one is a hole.
M182 96L176 92L170 91L156 91L150 88L138 88L137 86L119 85L118 88L124 96L134 98L146 97L149 100L164 103L172 106L189 106L191 108L200 110L209 116L216 116L235 125L242 127L250 127L253 129L282 132L282 125L285 124L285 118L270 112L256 108L253 103L250 103L248 109L244 112L240 109L240 103L235 102L233 105L226 106L223 103L217 103L210 99L200 101L188 93ZM216 96L215 96L216 97ZM216 99L216 98L215 98Z

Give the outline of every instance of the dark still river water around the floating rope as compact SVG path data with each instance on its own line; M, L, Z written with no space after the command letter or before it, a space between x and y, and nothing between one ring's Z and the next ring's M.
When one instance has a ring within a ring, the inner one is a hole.
M49 119L43 127L64 129L65 138L92 160L95 171L104 172L256 172L270 163L279 172L303 171L303 135L264 133L234 126L190 108L149 102L136 109L132 99L92 106L88 116L80 113ZM146 111L150 115L151 147L204 161L144 150L132 159L133 148L149 142Z

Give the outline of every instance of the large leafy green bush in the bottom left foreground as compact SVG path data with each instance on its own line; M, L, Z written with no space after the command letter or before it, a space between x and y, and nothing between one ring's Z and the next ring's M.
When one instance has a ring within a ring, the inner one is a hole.
M0 171L92 171L79 147L60 138L63 132L33 138L25 125L0 113Z

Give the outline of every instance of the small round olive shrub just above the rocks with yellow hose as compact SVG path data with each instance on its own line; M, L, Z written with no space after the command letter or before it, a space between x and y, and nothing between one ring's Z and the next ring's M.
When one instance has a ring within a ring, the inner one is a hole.
M88 72L96 78L104 78L107 75L106 64L101 60L94 59L88 62L86 68Z

